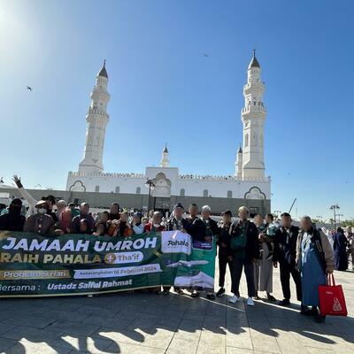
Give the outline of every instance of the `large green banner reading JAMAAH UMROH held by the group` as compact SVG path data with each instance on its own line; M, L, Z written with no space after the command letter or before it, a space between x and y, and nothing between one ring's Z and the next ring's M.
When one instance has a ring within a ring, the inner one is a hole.
M213 291L216 246L180 231L133 235L0 232L0 296L60 296L157 286Z

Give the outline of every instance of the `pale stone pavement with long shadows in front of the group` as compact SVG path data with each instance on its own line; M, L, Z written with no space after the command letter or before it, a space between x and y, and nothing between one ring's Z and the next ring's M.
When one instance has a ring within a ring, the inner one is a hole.
M173 293L0 299L0 352L349 354L354 273L337 272L335 279L345 290L349 317L324 324L300 315L298 304L281 308L261 300L247 307L229 304L227 296L215 302ZM273 295L281 298L278 271L273 282Z

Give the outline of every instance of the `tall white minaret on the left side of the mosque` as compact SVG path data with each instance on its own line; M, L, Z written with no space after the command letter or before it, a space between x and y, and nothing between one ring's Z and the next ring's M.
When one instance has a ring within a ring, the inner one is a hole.
M102 69L97 73L96 85L91 93L91 104L86 116L86 141L83 158L79 165L82 173L103 173L104 165L104 135L110 116L107 113L107 104L110 94L107 92L108 74L105 70L105 60Z

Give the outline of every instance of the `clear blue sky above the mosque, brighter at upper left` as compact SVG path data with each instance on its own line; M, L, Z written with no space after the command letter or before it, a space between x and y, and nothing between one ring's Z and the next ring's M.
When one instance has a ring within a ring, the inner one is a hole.
M272 211L353 218L354 2L0 0L0 177L65 189L104 58L106 172L229 175L252 50ZM204 53L209 57L205 57ZM29 85L32 92L26 89Z

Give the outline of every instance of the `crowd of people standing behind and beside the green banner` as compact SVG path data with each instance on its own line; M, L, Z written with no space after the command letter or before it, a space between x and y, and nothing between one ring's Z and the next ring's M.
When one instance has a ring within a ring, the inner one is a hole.
M312 219L304 216L300 227L292 223L289 213L281 214L281 223L274 221L273 214L256 215L250 219L248 208L242 206L233 221L231 211L221 214L219 223L212 219L212 210L204 205L199 213L196 204L190 204L188 212L181 204L176 204L173 212L166 217L161 212L128 212L111 205L110 211L94 215L89 204L82 203L79 208L56 201L54 196L35 200L23 188L15 176L14 181L21 195L27 199L27 217L22 214L22 201L12 199L11 204L0 211L0 230L26 231L40 235L87 234L111 237L131 237L150 232L181 230L191 235L192 240L213 242L218 245L219 291L207 294L211 300L226 293L225 277L227 266L231 274L231 292L228 301L240 300L240 281L242 271L247 282L247 305L253 306L260 292L266 293L271 302L273 296L273 268L280 268L282 306L290 305L290 276L295 282L296 299L301 303L301 313L312 315L318 321L325 319L319 312L319 285L327 284L327 274L334 269L346 270L348 255L353 259L354 235L351 228L344 232L338 228L335 233L315 227ZM347 246L349 247L347 250ZM160 292L160 289L155 289ZM168 295L169 287L162 293ZM173 288L182 295L183 289ZM196 290L190 296L197 297Z

